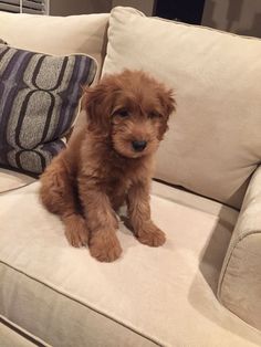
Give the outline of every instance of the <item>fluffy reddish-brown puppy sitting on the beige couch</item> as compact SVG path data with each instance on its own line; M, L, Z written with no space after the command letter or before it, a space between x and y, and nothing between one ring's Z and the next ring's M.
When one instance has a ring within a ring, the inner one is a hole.
M115 211L126 201L136 238L150 246L165 234L150 220L153 156L175 109L171 91L140 71L105 76L86 90L87 125L41 177L41 199L65 224L73 246L112 262L122 249Z

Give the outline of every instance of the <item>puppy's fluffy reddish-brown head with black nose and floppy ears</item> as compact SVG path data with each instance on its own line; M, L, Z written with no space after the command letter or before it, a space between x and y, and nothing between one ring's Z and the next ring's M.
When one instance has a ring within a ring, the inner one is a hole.
M140 71L107 75L86 90L88 129L127 158L157 149L174 109L171 91Z

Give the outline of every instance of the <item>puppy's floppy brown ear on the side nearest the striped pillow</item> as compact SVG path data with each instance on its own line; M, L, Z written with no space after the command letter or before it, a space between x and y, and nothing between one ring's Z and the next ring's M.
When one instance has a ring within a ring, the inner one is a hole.
M85 90L85 109L90 129L107 136L111 129L113 91L109 85L100 83Z

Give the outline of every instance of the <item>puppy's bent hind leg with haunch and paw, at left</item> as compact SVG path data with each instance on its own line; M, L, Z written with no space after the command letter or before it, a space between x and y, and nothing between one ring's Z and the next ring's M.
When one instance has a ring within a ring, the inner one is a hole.
M65 225L65 236L73 246L86 245L88 230L79 211L73 179L60 155L41 176L40 197L45 208L59 214Z

